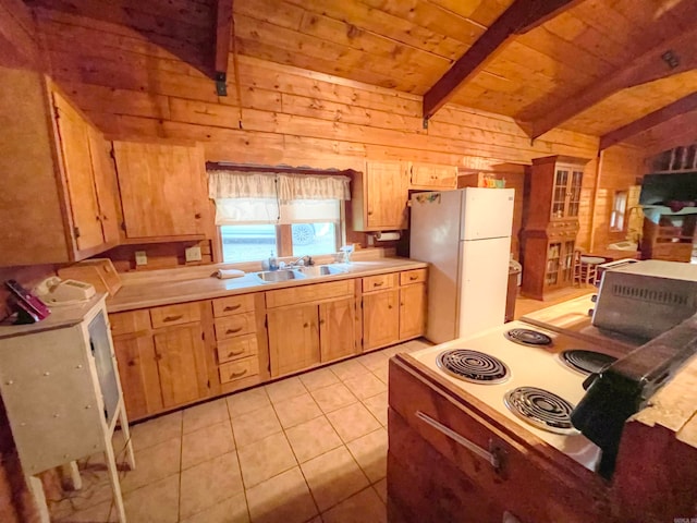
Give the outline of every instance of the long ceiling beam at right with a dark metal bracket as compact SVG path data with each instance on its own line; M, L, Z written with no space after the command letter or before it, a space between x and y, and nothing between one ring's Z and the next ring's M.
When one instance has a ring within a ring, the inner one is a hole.
M622 89L696 69L695 41L697 41L697 27L629 60L629 65L626 68L580 89L564 104L529 122L530 137L535 139L541 136Z

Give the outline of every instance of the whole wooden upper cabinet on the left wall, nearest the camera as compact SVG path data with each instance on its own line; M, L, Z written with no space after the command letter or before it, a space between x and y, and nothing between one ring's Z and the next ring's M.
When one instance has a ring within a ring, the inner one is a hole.
M44 75L0 68L0 266L57 264L118 242L106 142Z

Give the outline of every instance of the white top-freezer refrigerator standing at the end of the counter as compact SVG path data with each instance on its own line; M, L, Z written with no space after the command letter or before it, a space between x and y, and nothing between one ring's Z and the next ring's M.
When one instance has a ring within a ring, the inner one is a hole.
M430 341L503 324L514 194L467 187L412 196L409 257L429 263Z

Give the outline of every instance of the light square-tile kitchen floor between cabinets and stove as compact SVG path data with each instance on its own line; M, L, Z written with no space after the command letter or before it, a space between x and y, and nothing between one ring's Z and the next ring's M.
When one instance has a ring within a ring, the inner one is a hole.
M121 473L130 523L387 521L387 369L409 341L150 419ZM114 436L123 455L123 439ZM57 522L117 521L103 459L50 503Z

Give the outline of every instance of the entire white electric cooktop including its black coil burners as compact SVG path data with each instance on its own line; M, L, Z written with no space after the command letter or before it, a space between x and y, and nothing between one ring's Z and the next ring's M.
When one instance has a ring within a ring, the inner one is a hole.
M512 330L517 336L509 335ZM572 350L592 354L566 352ZM588 370L597 370L621 354L588 340L511 321L411 355L458 387L463 396L474 396L576 462L596 470L600 449L573 428L568 415L585 394L583 381ZM583 364L587 370L572 368L564 363L564 355L572 360L589 356L589 363Z

